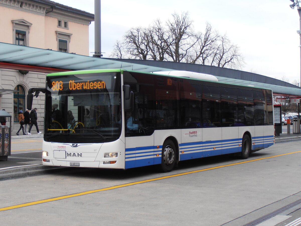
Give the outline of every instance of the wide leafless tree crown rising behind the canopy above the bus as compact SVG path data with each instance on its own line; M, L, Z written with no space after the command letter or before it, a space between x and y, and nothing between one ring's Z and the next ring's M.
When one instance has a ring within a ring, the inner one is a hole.
M152 59L240 69L244 58L226 35L206 23L204 33L193 30L188 12L174 13L163 27L159 19L148 28L132 28L117 41L110 57Z

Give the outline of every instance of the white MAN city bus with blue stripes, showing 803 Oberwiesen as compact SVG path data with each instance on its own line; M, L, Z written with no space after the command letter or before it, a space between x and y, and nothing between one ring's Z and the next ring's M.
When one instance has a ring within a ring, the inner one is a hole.
M162 72L163 73L163 72ZM273 145L272 90L123 69L52 73L45 93L46 166L128 169ZM35 95L33 93L35 92Z

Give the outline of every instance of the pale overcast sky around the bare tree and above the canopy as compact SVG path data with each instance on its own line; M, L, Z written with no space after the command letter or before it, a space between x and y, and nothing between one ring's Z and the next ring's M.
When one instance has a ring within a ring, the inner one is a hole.
M94 0L55 2L94 13ZM109 57L116 40L132 27L148 27L157 18L164 22L174 12L188 11L195 31L204 31L207 21L240 47L246 62L242 71L299 82L299 15L290 4L290 0L102 0L101 52ZM94 22L90 52L94 52Z

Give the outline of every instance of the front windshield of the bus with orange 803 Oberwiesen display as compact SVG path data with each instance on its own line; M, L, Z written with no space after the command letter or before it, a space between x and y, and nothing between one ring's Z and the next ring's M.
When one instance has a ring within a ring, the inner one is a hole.
M45 141L104 143L119 138L120 73L49 76L46 86Z

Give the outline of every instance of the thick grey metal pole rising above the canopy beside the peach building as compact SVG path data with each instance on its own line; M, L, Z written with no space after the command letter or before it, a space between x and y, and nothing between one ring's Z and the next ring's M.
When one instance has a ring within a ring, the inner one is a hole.
M101 0L94 0L94 57L102 57L101 54ZM300 75L301 76L301 75Z

